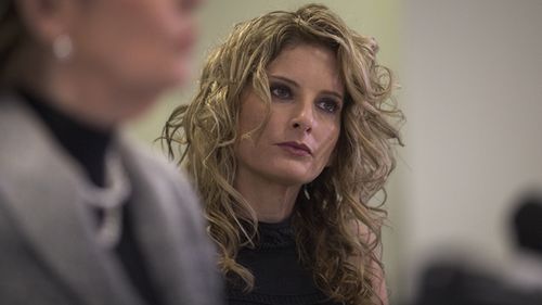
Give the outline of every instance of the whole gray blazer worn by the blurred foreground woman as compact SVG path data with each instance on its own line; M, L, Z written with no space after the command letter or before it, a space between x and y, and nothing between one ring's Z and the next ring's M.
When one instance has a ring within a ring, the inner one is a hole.
M214 249L188 181L120 138L136 239L166 304L222 304ZM0 97L0 304L143 304L117 256L93 238L74 178L81 173L30 110Z

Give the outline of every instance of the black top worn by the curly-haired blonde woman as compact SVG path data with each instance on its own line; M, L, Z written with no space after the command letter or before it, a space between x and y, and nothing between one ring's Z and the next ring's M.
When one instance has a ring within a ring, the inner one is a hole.
M259 223L258 232L256 247L243 247L236 258L254 275L254 290L244 293L238 280L229 279L229 305L338 305L315 287L311 271L299 263L289 219Z

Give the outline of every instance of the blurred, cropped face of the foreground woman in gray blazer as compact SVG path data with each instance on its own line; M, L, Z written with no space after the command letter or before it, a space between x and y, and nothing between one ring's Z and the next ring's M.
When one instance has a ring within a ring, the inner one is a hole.
M77 1L70 59L78 72L146 97L182 84L201 0Z

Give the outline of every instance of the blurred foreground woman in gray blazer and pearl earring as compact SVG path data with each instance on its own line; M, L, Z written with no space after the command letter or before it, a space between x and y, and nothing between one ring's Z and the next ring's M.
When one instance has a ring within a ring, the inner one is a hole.
M0 304L219 304L196 199L122 123L186 77L198 0L2 0Z

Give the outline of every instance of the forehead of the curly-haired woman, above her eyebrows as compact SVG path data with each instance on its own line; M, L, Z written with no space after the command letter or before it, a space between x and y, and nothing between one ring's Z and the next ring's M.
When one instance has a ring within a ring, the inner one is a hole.
M325 90L344 91L337 56L324 46L287 46L268 65L268 74L287 77L304 86L323 86Z

